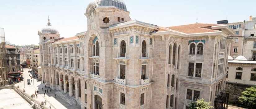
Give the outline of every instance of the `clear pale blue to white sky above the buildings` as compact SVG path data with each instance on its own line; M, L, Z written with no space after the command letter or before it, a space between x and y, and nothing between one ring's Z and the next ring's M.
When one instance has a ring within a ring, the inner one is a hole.
M87 30L84 15L94 0L1 0L0 27L6 41L16 45L38 44L38 30L50 22L61 37L72 37ZM132 20L158 26L229 22L256 17L256 0L124 0Z

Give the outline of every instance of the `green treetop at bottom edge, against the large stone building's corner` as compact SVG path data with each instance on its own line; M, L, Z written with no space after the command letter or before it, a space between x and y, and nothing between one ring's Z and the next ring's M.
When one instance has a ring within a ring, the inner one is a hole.
M192 101L189 104L189 109L211 109L213 108L212 106L210 106L211 102L205 102L204 99L200 99L197 101Z

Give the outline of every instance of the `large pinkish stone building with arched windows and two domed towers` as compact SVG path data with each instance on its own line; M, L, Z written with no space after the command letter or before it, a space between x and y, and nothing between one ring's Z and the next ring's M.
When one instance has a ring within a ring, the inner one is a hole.
M225 87L234 32L227 25L160 27L132 20L121 0L87 6L88 30L38 31L43 83L81 109L184 109Z

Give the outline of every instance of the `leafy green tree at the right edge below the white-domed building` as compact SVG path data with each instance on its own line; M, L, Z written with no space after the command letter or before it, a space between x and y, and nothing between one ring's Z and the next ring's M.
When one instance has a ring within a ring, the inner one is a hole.
M246 88L239 97L239 101L245 105L255 109L256 107L256 86Z

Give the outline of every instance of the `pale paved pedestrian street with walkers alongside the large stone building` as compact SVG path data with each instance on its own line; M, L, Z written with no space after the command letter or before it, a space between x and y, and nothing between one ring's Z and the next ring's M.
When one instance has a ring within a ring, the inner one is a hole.
M52 109L80 109L81 106L80 105L75 105L72 106L70 104L68 104L65 100L61 99L59 96L56 95L56 98L54 97L54 93L57 92L56 90L52 90L52 92L50 92L50 88L45 88L43 83L41 83L41 81L37 81L37 79L30 79L29 75L31 76L31 74L28 72L28 69L24 69L23 72L23 77L24 77L24 81L15 84L15 86L19 86L21 90L24 89L24 82L25 82L25 93L31 95L31 94L35 94L35 91L39 91L38 94L38 98L34 97L34 99L36 101L41 102L45 102L47 101L47 105L44 104L45 107L47 107L49 109L49 106L51 105ZM30 79L31 85L27 85L27 79ZM33 85L34 84L34 85ZM43 90L47 90L48 89L48 93L45 94L44 96L44 91L42 91L42 87Z

